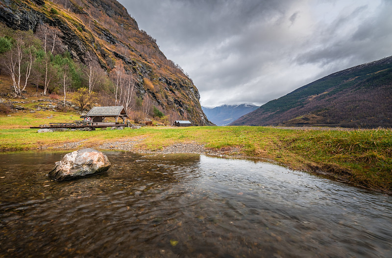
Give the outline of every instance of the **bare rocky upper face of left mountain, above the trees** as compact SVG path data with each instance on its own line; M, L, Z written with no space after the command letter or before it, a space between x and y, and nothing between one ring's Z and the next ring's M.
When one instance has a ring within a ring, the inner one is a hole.
M212 125L201 109L200 95L192 80L178 64L166 58L156 40L140 30L116 0L0 0L0 22L14 30L8 33L11 38L18 31L32 31L45 45L45 53L50 49L53 55L67 52L81 67L96 64L93 71L106 80L99 89L106 105L131 103L121 102L117 95L121 87L118 92L113 88L131 77L135 82L133 101L140 107L143 101L145 113L154 107L172 119ZM50 84L49 90L54 91L54 81Z

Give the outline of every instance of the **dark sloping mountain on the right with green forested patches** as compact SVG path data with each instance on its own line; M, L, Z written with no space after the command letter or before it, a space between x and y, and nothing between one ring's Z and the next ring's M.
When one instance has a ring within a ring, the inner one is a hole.
M392 57L330 74L231 125L392 127Z

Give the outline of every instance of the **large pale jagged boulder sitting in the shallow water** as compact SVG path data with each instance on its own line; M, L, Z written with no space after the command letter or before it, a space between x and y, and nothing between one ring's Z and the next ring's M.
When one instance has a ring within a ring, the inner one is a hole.
M105 172L110 167L106 155L94 149L83 149L66 154L57 161L49 177L57 181L70 180Z

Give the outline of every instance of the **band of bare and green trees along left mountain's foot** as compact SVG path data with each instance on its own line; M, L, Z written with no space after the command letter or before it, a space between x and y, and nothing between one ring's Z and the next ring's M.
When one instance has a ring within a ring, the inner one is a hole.
M69 92L81 110L98 103L101 106L124 106L135 121L148 116L167 119L153 106L148 95L137 96L132 71L118 61L109 74L87 54L87 64L74 62L69 52L59 51L55 29L42 25L32 31L0 28L0 73L8 74L12 90L21 96L26 86L36 86L37 95L62 94L64 106ZM39 35L39 37L37 36Z

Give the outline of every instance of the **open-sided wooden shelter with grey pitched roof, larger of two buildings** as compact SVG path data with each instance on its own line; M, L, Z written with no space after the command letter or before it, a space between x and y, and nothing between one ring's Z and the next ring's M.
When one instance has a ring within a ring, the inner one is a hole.
M83 122L85 123L105 123L105 118L116 119L116 124L118 124L119 118L123 120L125 124L125 119L128 114L123 106L120 107L94 107L86 115L81 116Z

